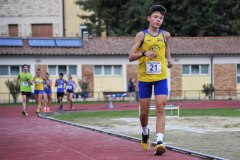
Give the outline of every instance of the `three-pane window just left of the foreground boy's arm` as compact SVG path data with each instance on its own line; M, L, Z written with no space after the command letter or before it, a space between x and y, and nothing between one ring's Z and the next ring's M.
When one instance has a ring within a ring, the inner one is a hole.
M120 76L122 75L121 65L96 65L94 75L97 76Z

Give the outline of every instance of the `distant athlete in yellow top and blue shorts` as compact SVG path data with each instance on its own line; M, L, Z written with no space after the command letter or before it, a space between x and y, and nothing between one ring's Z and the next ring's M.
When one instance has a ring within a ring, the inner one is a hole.
M40 68L37 69L36 72L36 76L33 79L34 83L35 83L35 90L34 90L34 97L37 103L37 110L36 113L41 112L42 110L42 98L43 98L43 89L44 89L44 78L41 76L41 70Z

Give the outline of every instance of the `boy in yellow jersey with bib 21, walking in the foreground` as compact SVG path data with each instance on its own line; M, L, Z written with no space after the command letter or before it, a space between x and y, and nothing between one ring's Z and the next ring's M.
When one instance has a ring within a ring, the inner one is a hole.
M129 54L130 62L139 60L138 87L143 150L150 147L148 114L152 87L154 87L157 115L155 155L166 152L162 142L165 129L164 107L168 96L167 67L173 66L168 48L170 33L160 29L166 12L166 9L161 5L154 5L149 9L147 16L149 28L137 33Z

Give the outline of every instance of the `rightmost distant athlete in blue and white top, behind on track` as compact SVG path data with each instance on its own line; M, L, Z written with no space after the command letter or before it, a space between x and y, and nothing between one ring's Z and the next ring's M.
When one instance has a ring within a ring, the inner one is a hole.
M73 110L74 107L72 104L72 96L77 85L75 81L72 80L72 76L70 74L68 75L68 81L66 82L66 87L67 87L67 100L68 100L68 104L70 105L69 108Z

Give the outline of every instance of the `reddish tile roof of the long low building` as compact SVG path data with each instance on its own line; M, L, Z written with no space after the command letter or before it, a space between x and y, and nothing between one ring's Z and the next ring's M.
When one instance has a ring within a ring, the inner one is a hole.
M0 47L0 55L128 55L133 37L94 37L83 42L83 48ZM172 55L240 55L238 37L172 37Z

